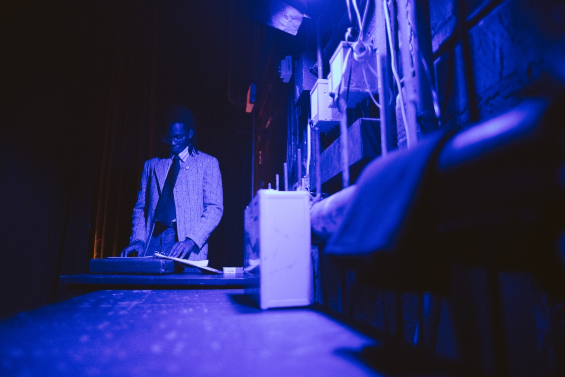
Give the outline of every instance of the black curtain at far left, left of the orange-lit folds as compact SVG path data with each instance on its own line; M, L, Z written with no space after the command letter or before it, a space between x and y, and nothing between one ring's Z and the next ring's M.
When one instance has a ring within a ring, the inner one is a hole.
M0 2L0 318L68 297L59 275L88 271L113 11Z

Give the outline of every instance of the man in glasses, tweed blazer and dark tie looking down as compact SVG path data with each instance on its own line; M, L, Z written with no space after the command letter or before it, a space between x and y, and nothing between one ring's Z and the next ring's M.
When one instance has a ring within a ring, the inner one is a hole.
M194 117L184 106L169 110L162 139L171 158L145 162L130 244L121 256L157 252L203 261L208 236L223 213L218 160L196 149Z

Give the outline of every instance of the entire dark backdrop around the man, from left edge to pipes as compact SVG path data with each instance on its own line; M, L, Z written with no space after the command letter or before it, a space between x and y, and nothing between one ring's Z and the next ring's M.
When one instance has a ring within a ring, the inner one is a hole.
M143 162L166 153L159 128L177 103L197 118L198 149L220 163L210 263L241 266L245 12L220 0L14 1L0 15L0 318L68 297L59 275L128 245Z

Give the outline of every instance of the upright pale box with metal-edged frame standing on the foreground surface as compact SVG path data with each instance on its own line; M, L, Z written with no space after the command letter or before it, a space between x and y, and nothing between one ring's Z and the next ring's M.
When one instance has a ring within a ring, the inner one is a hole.
M310 193L258 190L245 209L245 293L261 309L312 304Z

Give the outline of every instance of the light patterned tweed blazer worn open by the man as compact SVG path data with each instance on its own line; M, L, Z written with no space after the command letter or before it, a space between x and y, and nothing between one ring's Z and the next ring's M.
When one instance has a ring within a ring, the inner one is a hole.
M155 209L171 164L172 158L153 158L145 162L133 209L130 244L144 241L147 250L155 225ZM181 164L173 196L179 240L193 240L199 252L190 253L188 259L203 261L208 257L208 237L218 226L224 210L218 160L203 152L189 155Z

